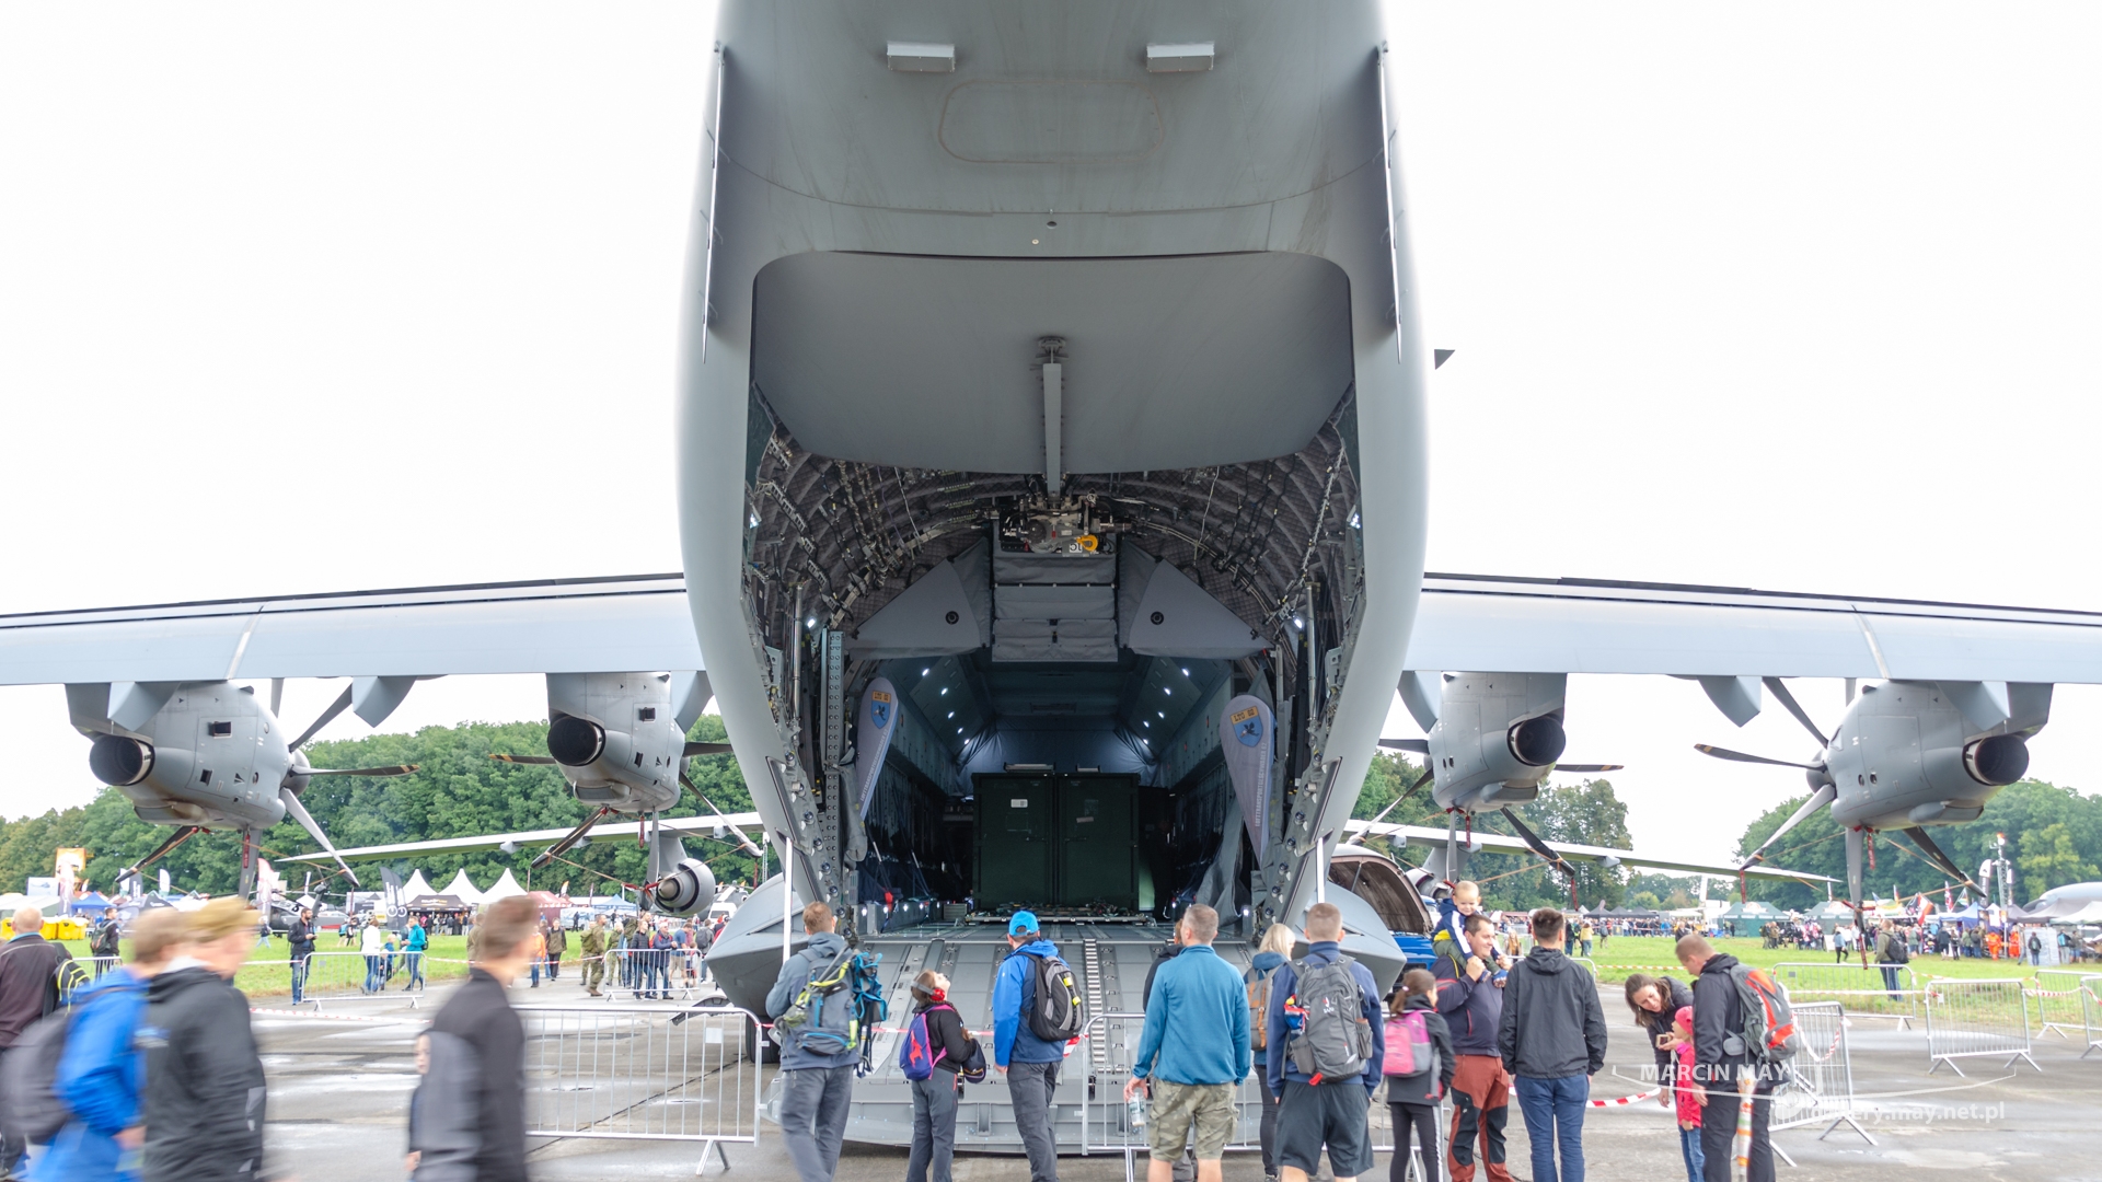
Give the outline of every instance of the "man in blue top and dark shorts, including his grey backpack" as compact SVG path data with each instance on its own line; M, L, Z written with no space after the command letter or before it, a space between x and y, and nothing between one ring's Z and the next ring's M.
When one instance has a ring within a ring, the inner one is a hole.
M1305 921L1307 955L1270 982L1265 1087L1278 1096L1278 1169L1305 1182L1328 1146L1335 1182L1373 1169L1366 1117L1383 1079L1379 984L1343 955L1343 911L1316 902Z

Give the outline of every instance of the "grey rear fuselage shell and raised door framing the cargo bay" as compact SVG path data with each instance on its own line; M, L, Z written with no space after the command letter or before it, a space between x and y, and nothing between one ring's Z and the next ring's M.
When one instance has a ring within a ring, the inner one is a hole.
M889 69L885 46L908 32L952 44L954 74ZM1150 42L1202 38L1217 46L1215 69L1148 72ZM1068 343L1057 442L1068 471L1276 454L1314 408L1356 387L1358 448L1381 463L1360 473L1366 599L1320 778L1362 780L1421 587L1429 370L1377 6L725 4L719 44L685 284L681 534L700 648L769 829L803 833L767 658L750 612L729 608L746 602L742 427L755 383L790 383L767 398L792 429L866 427L839 444L858 458L965 458L925 452L961 435L988 444L982 463L1038 471L1040 389L1032 400L1026 366L1047 334ZM1013 118L1040 95L1019 86L1047 82L1072 86L1055 107L1089 130L1043 139ZM1347 358L1324 337L1335 320L1286 313L1272 290L1190 288L1242 271L1299 284L1335 311L1347 292ZM811 276L864 297L847 311L874 311L868 299L910 305L893 290L931 303L925 315L883 311L889 334L868 341ZM1114 282L1160 307L1106 322L1097 311ZM868 349L879 351L864 383ZM1246 366L1228 372L1230 358ZM1316 381L1270 385L1284 358ZM929 379L925 393L914 372ZM986 404L959 408L954 391L977 379ZM1118 389L1146 398L1116 406L1106 395ZM977 433L935 419L950 412ZM1251 437L1251 425L1265 433ZM1291 818L1284 841L1299 862L1280 867L1282 911L1303 906L1312 843L1333 843L1352 797L1328 793L1318 816ZM816 892L805 875L799 890Z

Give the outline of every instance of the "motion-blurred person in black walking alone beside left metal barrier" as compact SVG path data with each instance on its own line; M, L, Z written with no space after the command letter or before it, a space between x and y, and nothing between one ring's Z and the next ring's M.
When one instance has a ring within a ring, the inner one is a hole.
M526 1024L507 991L534 959L538 919L534 900L515 894L475 923L473 967L431 1020L431 1073L410 1108L416 1182L526 1182ZM452 1079L479 1083L475 1104L437 1100ZM423 1153L433 1153L429 1169Z

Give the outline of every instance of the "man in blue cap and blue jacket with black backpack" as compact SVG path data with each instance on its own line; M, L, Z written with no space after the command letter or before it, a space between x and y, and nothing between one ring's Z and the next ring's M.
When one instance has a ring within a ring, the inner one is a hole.
M1038 934L1034 911L1017 911L1007 921L1007 946L992 978L992 1064L1007 1077L1030 1182L1057 1182L1051 1098L1066 1041L1080 1033L1080 991L1057 944Z

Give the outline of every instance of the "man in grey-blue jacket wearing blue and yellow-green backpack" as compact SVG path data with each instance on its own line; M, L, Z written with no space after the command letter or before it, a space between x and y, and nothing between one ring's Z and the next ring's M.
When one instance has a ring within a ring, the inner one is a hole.
M862 1062L851 980L856 953L832 925L830 906L805 906L809 944L788 957L767 991L767 1016L782 1047L782 1140L803 1182L828 1182L839 1169L853 1068Z

